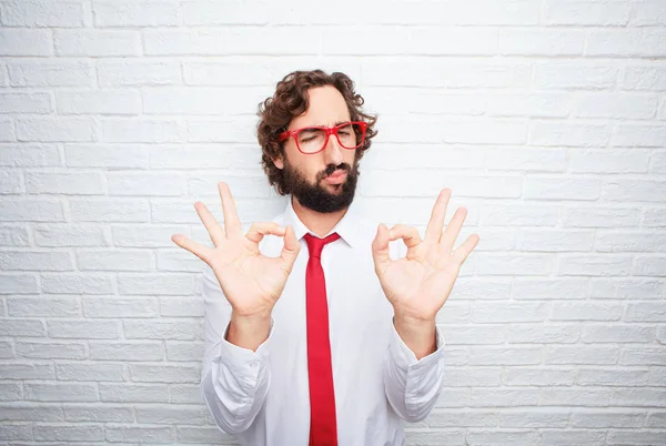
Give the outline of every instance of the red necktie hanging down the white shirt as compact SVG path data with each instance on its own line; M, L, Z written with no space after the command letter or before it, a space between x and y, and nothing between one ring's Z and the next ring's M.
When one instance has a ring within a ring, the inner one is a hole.
M329 338L329 303L322 268L322 250L340 239L333 233L326 239L305 234L310 259L305 273L307 308L307 373L310 376L310 446L337 445L335 393Z

